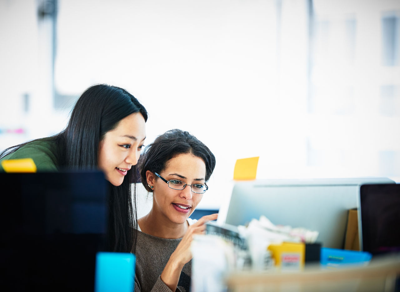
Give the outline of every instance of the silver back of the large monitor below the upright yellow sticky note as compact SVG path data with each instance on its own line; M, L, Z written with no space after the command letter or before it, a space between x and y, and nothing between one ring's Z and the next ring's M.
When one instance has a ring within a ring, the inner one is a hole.
M394 181L389 178L319 178L236 182L225 220L218 219L220 223L237 226L264 215L275 225L318 231L317 241L324 247L343 248L348 210L357 207L358 189L365 183Z

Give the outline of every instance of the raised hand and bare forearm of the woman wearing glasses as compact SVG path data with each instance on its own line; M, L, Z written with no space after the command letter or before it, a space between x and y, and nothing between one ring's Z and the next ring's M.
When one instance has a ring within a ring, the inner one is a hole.
M196 223L190 225L184 237L171 254L170 259L165 265L161 273L161 280L172 290L175 291L178 286L180 273L183 266L192 259L190 246L192 245L193 237L196 234L204 234L208 221L216 220L218 214L206 215L200 218Z

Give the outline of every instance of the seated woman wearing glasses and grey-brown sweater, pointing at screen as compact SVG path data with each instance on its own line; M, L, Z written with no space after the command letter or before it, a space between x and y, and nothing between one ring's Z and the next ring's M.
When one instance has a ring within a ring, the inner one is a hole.
M140 158L142 184L153 193L150 212L138 220L135 291L189 291L190 244L218 214L190 220L214 167L214 154L196 137L170 130Z

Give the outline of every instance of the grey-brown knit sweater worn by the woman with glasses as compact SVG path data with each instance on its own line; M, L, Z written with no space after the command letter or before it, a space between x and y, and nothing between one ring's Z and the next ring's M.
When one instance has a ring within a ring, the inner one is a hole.
M135 252L135 292L171 291L162 282L160 275L181 239L160 238L138 231ZM184 265L176 291L188 292L190 290L191 274L192 260Z

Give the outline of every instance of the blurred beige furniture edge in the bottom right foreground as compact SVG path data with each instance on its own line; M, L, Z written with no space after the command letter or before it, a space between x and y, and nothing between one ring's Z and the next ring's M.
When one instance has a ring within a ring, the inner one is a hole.
M394 291L400 255L373 259L368 266L298 272L233 272L226 278L231 292L248 291ZM399 288L399 287L398 287Z

